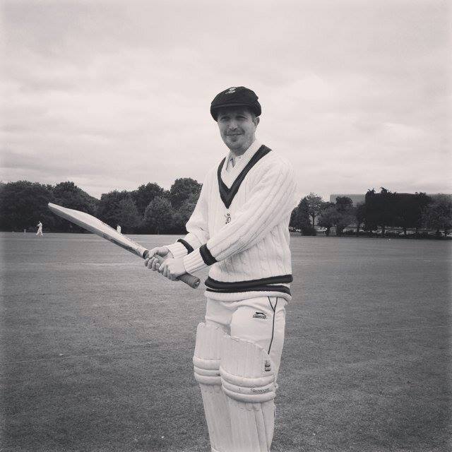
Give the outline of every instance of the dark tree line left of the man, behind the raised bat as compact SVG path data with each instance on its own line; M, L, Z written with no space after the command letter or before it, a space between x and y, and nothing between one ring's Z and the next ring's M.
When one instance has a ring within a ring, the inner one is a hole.
M148 183L132 191L109 191L93 198L73 182L54 186L19 181L0 184L0 230L33 230L38 221L48 232L82 232L54 215L47 203L81 210L125 234L183 233L201 193L201 184L189 177L174 181L169 190Z

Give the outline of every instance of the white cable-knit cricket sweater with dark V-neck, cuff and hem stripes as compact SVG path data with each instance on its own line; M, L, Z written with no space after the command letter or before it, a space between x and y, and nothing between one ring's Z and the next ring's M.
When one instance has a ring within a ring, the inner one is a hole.
M206 176L188 234L168 248L174 258L184 258L187 273L211 266L206 297L290 300L292 166L258 141L228 171L225 158Z

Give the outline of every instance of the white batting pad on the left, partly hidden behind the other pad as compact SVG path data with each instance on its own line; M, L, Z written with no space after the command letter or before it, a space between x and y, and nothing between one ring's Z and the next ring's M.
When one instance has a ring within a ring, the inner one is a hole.
M227 398L221 389L220 355L225 332L199 323L193 357L195 379L201 388L210 446L216 452L232 452L232 433Z

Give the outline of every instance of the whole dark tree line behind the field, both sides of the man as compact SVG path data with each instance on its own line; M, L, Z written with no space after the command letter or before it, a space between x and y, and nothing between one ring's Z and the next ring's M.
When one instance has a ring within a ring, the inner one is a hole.
M48 232L82 232L50 212L50 202L95 215L112 227L121 225L125 234L183 234L200 193L201 184L189 177L176 179L169 190L150 182L132 191L109 191L100 199L73 182L0 183L0 230L35 230L41 221ZM354 206L347 196L338 196L331 203L310 193L292 211L290 229L315 235L319 227L327 235L333 228L342 235L349 227L354 227L355 234L379 230L385 235L388 228L399 227L405 234L429 229L439 236L452 229L452 198L398 194L381 188L379 193L369 189L364 203Z

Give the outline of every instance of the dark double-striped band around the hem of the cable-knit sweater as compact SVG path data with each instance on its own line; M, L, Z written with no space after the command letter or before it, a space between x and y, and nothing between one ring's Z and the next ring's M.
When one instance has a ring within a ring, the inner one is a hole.
M281 285L281 283L292 283L292 275L270 276L270 278L261 278L259 280L217 281L210 276L206 279L208 292L283 292L290 295L290 288Z

